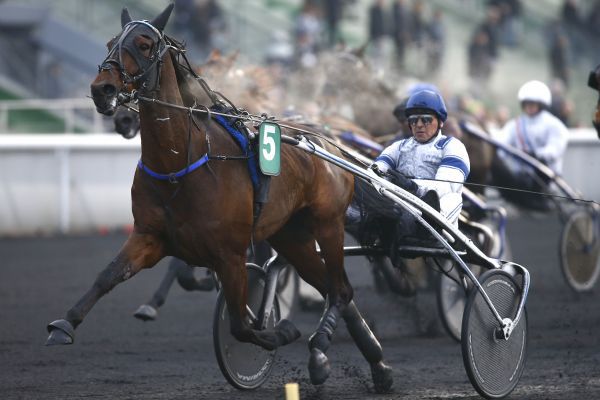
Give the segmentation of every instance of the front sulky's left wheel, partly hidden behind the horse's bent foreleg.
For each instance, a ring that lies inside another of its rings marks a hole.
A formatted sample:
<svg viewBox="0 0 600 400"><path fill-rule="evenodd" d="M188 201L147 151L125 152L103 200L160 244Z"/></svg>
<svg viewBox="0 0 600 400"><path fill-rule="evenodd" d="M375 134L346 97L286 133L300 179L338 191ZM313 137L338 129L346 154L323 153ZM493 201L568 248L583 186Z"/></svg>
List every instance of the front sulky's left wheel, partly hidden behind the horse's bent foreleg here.
<svg viewBox="0 0 600 400"><path fill-rule="evenodd" d="M257 316L265 288L265 272L254 264L246 264L246 266L248 307ZM276 297L267 328L272 329L279 319L279 302ZM251 343L242 343L231 335L229 313L223 292L219 293L215 306L213 343L219 368L232 386L243 390L256 389L269 377L277 350L267 351Z"/></svg>

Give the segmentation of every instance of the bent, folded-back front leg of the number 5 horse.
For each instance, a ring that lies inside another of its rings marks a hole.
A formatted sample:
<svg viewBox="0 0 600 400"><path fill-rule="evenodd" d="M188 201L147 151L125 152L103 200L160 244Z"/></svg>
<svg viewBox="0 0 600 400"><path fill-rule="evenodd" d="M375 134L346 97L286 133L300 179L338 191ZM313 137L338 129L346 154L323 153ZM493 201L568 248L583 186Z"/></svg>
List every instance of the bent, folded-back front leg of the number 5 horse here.
<svg viewBox="0 0 600 400"><path fill-rule="evenodd" d="M300 332L287 320L281 320L274 329L259 330L250 320L246 308L248 274L245 253L230 256L215 268L227 302L231 334L240 342L254 343L274 350L300 337Z"/></svg>

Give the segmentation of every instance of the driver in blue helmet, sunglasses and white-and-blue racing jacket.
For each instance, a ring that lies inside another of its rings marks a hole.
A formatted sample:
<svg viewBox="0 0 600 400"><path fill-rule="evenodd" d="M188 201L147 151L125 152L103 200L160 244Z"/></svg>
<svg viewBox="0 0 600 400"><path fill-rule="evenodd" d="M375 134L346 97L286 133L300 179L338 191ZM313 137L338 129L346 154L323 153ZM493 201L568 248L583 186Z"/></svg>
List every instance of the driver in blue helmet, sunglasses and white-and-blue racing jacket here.
<svg viewBox="0 0 600 400"><path fill-rule="evenodd" d="M370 168L380 175L399 172L395 183L430 205L431 197L437 197L433 204L439 200L440 213L458 227L470 164L462 142L442 134L448 117L444 100L436 91L417 91L408 98L404 115L412 136L385 148Z"/></svg>

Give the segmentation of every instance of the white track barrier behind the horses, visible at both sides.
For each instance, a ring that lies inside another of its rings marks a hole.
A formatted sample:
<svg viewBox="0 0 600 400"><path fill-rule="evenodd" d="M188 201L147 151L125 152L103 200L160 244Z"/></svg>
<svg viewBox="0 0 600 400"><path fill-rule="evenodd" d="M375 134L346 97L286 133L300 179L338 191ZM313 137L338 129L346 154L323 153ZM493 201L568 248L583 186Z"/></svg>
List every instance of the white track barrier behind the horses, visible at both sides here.
<svg viewBox="0 0 600 400"><path fill-rule="evenodd" d="M600 200L600 140L571 131L564 175ZM0 135L0 235L74 233L133 222L131 182L139 137L117 134Z"/></svg>

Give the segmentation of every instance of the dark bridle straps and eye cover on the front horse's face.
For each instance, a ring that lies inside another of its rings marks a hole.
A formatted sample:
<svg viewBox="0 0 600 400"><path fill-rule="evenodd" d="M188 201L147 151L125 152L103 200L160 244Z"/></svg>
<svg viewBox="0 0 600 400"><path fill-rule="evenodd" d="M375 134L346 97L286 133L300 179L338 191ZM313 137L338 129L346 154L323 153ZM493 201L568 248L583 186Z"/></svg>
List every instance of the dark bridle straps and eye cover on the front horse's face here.
<svg viewBox="0 0 600 400"><path fill-rule="evenodd" d="M149 37L154 42L154 49L149 58L140 54L137 49L134 38L131 33L136 32L140 35ZM131 21L123 27L123 31L118 41L108 51L108 55L101 65L98 66L98 73L110 71L116 66L124 85L141 82L140 91L143 93L155 92L160 88L160 69L162 57L169 49L178 48L167 43L165 35L152 26L148 21ZM126 50L136 62L139 72L136 75L130 75L123 66L122 52Z"/></svg>

